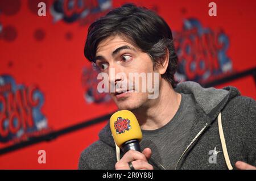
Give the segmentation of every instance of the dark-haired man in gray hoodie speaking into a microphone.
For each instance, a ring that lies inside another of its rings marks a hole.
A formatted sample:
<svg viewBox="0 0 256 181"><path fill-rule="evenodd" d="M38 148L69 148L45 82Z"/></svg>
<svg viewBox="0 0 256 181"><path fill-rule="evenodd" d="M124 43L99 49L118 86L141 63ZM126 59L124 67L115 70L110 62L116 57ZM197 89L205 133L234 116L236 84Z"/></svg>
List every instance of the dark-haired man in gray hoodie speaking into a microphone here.
<svg viewBox="0 0 256 181"><path fill-rule="evenodd" d="M89 61L106 74L112 69L127 77L158 73L159 89L155 99L148 98L148 90L110 92L119 110L137 117L142 153L121 150L119 155L107 124L100 140L82 152L79 169L255 169L255 101L234 87L177 85L172 40L170 27L159 15L131 4L90 25L84 49ZM109 86L123 81L125 76L110 76Z"/></svg>

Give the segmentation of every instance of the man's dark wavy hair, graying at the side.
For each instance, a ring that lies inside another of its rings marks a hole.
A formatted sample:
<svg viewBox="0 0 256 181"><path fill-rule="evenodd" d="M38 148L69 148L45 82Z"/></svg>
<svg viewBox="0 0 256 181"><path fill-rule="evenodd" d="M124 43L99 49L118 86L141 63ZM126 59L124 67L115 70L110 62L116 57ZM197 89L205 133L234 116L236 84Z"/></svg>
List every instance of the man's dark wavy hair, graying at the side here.
<svg viewBox="0 0 256 181"><path fill-rule="evenodd" d="M113 9L88 28L84 47L85 57L94 62L98 44L114 35L124 37L142 52L147 53L154 66L161 64L168 50L169 64L162 76L172 87L176 87L178 82L175 81L174 74L177 70L177 54L171 29L163 18L152 10L131 3Z"/></svg>

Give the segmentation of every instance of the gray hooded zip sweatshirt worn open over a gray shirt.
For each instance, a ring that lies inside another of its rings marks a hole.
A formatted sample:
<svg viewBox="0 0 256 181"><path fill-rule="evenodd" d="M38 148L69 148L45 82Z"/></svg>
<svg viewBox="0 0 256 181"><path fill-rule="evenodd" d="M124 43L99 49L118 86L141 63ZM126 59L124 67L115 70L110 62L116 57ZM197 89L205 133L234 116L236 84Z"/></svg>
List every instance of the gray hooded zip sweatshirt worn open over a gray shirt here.
<svg viewBox="0 0 256 181"><path fill-rule="evenodd" d="M241 96L232 86L204 89L196 82L182 82L175 91L192 94L196 102L196 120L176 169L236 169L237 161L256 165L255 100ZM122 158L109 123L98 136L98 141L82 151L79 169L115 169ZM209 150L215 147L222 148L217 163L209 161L214 161ZM148 162L154 169L165 169L154 158Z"/></svg>

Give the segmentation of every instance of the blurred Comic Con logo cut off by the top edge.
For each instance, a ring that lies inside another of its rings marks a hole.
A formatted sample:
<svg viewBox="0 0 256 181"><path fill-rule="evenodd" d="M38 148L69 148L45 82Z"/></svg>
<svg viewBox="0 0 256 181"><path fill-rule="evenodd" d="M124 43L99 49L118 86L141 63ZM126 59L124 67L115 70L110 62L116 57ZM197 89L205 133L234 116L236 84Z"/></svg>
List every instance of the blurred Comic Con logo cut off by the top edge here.
<svg viewBox="0 0 256 181"><path fill-rule="evenodd" d="M92 23L112 8L110 0L56 0L50 12L53 22L64 20L72 23L80 20L81 24Z"/></svg>

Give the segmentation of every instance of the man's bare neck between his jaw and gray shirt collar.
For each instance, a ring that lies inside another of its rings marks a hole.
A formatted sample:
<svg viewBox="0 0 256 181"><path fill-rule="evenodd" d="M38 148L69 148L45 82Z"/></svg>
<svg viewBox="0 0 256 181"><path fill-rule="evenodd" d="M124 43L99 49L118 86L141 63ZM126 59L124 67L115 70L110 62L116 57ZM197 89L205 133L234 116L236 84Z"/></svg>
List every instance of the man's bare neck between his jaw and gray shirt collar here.
<svg viewBox="0 0 256 181"><path fill-rule="evenodd" d="M154 130L166 125L177 112L181 101L181 94L172 89L164 79L159 87L157 99L148 99L148 105L133 110L141 129Z"/></svg>

